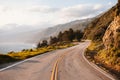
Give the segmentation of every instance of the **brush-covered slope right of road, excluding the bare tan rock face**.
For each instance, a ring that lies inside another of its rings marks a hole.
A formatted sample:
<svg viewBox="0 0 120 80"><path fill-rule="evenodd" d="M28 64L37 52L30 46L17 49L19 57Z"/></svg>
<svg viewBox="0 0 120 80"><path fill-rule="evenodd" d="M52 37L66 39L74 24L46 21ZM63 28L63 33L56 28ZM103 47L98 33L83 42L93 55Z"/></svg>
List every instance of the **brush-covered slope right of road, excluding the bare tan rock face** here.
<svg viewBox="0 0 120 80"><path fill-rule="evenodd" d="M102 42L106 29L114 20L117 11L118 7L115 5L103 15L92 21L85 29L84 38L93 41L86 50L87 58L108 68L120 77L120 49L112 47L110 50L106 50Z"/></svg>

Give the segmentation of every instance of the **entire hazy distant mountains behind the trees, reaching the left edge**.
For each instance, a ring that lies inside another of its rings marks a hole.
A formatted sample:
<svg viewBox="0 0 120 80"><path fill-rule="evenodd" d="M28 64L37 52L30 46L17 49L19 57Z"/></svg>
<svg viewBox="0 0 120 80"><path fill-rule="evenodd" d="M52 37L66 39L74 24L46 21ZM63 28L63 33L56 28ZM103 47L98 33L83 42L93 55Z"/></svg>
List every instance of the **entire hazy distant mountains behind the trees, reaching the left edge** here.
<svg viewBox="0 0 120 80"><path fill-rule="evenodd" d="M76 20L66 24L60 24L53 27L49 27L46 29L16 29L12 31L0 31L0 43L4 42L25 42L25 43L38 43L43 39L48 39L50 36L57 36L60 31L69 30L69 28L73 28L74 30L84 30L87 25L93 20L83 19ZM14 26L14 25L7 25ZM18 26L18 25L15 25ZM28 31L27 31L28 30Z"/></svg>

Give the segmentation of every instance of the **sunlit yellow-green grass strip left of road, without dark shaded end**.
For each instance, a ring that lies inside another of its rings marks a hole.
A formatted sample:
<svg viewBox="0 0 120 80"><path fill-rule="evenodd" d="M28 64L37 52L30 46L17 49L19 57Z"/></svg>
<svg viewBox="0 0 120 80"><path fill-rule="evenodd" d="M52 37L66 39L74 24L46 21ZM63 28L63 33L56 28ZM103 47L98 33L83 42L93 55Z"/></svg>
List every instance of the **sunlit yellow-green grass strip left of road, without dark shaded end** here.
<svg viewBox="0 0 120 80"><path fill-rule="evenodd" d="M24 60L24 59L27 59L36 55L40 55L46 52L50 52L56 49L63 49L71 46L74 46L74 44L65 43L65 44L59 44L56 46L50 45L50 46L44 46L36 49L27 49L27 50L24 49L21 52L9 52L7 55L16 60Z"/></svg>

